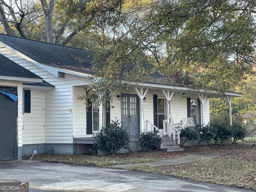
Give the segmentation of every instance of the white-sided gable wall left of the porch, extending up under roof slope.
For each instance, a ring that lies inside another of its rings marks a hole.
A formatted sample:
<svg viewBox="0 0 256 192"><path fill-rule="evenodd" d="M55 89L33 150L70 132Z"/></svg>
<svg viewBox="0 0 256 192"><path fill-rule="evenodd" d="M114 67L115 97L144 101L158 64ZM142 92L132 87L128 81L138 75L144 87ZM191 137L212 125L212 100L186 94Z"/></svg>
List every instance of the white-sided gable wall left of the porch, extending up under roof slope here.
<svg viewBox="0 0 256 192"><path fill-rule="evenodd" d="M44 136L45 143L72 143L73 142L73 123L72 123L72 102L73 96L71 87L76 84L86 84L86 78L65 74L64 78L58 78L49 72L39 68L35 64L21 58L18 54L0 46L0 53L10 60L20 64L24 68L42 77L46 82L55 86L54 90L45 92L45 119ZM39 102L39 101L38 101ZM36 106L36 104L35 104ZM70 112L71 110L71 112ZM34 123L39 126L40 121L26 120L25 125ZM54 133L54 134L53 134ZM39 135L38 137L40 137ZM27 136L27 140L28 140Z"/></svg>

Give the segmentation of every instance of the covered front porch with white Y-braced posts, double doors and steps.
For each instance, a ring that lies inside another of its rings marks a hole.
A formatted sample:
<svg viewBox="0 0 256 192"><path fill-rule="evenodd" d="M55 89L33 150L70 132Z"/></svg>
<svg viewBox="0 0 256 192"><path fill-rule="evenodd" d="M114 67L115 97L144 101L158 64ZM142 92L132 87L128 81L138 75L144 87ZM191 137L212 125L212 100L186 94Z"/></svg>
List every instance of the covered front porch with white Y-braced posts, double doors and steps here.
<svg viewBox="0 0 256 192"><path fill-rule="evenodd" d="M73 90L74 98L76 94L84 92L82 87L74 87ZM222 97L230 102L231 106L231 97L241 95L227 93ZM192 119L192 124L210 122L209 98L211 97L218 96L215 92L191 91L184 87L134 84L130 85L126 92L119 92L113 98L111 103L113 107L109 109L109 113L106 113L104 106L86 112L84 103L74 99L73 140L76 144L92 144L93 134L105 126L106 122L117 118L130 134L131 142L137 143L134 150L141 149L137 136L141 132L152 130L158 130L165 141L160 146L161 149L180 150L180 130L191 125L189 120ZM94 119L91 114L96 113Z"/></svg>

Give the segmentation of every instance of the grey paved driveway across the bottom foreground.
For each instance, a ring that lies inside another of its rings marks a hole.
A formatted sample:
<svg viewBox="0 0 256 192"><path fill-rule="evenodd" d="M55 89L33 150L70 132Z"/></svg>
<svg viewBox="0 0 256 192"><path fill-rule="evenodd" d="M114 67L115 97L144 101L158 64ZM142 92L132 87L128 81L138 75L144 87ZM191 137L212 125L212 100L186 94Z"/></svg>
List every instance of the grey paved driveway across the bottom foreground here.
<svg viewBox="0 0 256 192"><path fill-rule="evenodd" d="M30 192L252 192L172 176L38 161L0 162L0 182L29 182Z"/></svg>

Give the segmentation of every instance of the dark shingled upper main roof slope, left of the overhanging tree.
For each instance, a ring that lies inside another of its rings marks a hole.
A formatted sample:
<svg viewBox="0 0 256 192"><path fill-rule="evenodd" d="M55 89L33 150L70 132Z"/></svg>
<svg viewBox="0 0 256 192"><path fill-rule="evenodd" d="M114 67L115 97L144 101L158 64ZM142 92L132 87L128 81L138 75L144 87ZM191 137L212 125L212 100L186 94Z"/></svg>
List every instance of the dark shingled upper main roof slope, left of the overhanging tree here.
<svg viewBox="0 0 256 192"><path fill-rule="evenodd" d="M0 34L0 41L38 63L92 74L93 56L83 49Z"/></svg>

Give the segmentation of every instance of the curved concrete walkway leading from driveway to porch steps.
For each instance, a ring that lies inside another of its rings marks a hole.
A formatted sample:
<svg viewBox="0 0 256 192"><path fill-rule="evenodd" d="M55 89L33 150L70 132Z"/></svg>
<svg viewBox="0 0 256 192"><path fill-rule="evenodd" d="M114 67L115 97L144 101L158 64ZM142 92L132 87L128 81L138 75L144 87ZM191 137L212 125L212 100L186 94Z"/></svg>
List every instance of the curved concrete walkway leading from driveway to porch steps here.
<svg viewBox="0 0 256 192"><path fill-rule="evenodd" d="M166 165L177 165L177 164L184 164L189 162L196 162L201 159L211 159L214 157L219 157L219 154L216 153L208 153L208 152L190 152L190 151L181 151L178 153L184 153L187 156L179 157L179 158L173 158L173 159L166 159L166 160L160 160L160 161L154 161L154 162L147 162L147 163L134 163L134 164L124 164L124 165L114 165L110 166L111 168L131 168L139 165L151 165L151 166L166 166Z"/></svg>

